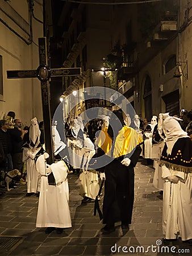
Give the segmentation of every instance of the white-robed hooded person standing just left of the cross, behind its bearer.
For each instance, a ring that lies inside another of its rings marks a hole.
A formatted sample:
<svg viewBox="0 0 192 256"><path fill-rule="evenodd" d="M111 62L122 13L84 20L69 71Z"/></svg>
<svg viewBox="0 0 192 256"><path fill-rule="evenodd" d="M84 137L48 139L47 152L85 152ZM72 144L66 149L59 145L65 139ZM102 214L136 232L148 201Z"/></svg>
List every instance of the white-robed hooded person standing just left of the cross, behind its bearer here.
<svg viewBox="0 0 192 256"><path fill-rule="evenodd" d="M36 117L31 119L30 125L30 143L23 148L23 162L26 162L27 168L27 194L26 196L31 196L34 193L40 191L39 175L35 167L35 156L40 154L40 130L37 123Z"/></svg>

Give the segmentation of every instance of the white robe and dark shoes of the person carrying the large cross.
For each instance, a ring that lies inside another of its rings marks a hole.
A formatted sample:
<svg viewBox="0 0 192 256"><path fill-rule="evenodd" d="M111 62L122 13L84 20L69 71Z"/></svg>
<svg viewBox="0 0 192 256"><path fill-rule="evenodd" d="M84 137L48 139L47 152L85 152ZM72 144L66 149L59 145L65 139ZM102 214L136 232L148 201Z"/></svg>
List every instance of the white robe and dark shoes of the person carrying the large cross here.
<svg viewBox="0 0 192 256"><path fill-rule="evenodd" d="M48 157L45 152L36 161L36 170L41 176L36 227L47 228L45 229L47 234L53 230L61 234L64 228L72 226L69 211L68 167L62 160L48 166L45 161ZM48 184L48 175L51 172L55 177L55 186Z"/></svg>

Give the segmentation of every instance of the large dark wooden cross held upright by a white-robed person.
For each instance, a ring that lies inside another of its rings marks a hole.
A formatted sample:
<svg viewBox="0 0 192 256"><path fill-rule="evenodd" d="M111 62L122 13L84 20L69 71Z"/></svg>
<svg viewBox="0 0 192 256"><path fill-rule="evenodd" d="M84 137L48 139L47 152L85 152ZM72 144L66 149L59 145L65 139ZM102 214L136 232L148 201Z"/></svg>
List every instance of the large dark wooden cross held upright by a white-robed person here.
<svg viewBox="0 0 192 256"><path fill-rule="evenodd" d="M54 155L53 155L53 141L52 141L52 131L51 131L49 79L50 77L53 77L53 76L81 75L81 68L55 68L55 69L49 68L48 60L47 60L47 42L45 37L39 38L39 63L40 65L36 70L7 71L7 79L22 79L22 78L37 77L41 81L41 100L43 105L45 149L46 149L46 152L48 152L49 154L47 163L52 164L54 163ZM51 181L51 176L49 177L49 184L50 185L55 184L54 179Z"/></svg>

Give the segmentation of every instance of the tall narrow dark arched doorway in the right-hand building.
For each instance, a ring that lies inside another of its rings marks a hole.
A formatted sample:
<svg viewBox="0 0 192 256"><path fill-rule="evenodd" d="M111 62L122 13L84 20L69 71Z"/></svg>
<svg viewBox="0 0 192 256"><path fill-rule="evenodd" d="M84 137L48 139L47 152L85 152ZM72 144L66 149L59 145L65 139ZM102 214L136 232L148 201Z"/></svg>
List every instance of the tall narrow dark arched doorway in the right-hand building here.
<svg viewBox="0 0 192 256"><path fill-rule="evenodd" d="M151 96L151 79L147 75L145 78L145 84L144 84L144 107L145 107L145 118L151 120L152 118L152 96Z"/></svg>

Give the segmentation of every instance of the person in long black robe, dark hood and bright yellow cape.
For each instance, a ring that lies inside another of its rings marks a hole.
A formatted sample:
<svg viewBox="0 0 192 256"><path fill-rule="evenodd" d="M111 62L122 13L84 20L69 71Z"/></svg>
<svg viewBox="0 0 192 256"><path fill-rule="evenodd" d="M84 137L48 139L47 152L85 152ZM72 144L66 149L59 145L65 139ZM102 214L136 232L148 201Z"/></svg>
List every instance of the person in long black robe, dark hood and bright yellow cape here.
<svg viewBox="0 0 192 256"><path fill-rule="evenodd" d="M126 126L122 110L114 110L110 125L98 136L97 146L110 159L103 162L105 195L103 199L103 233L115 231L115 222L122 222L122 229L129 229L134 200L134 167L141 152L140 135ZM101 169L100 169L101 170Z"/></svg>

